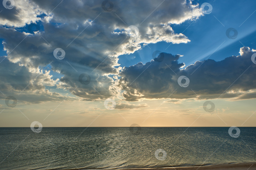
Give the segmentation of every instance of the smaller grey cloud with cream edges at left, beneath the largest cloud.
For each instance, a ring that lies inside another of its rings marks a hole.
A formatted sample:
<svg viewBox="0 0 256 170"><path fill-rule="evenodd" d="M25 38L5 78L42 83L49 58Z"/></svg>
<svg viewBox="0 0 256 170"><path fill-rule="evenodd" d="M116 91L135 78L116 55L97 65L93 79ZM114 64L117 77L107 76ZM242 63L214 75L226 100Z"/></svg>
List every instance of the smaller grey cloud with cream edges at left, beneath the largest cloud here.
<svg viewBox="0 0 256 170"><path fill-rule="evenodd" d="M78 100L75 97L63 96L46 89L54 87L59 79L53 80L49 68L29 70L18 63L0 57L0 98L14 96L19 103L41 103L44 101ZM7 69L8 68L8 69Z"/></svg>

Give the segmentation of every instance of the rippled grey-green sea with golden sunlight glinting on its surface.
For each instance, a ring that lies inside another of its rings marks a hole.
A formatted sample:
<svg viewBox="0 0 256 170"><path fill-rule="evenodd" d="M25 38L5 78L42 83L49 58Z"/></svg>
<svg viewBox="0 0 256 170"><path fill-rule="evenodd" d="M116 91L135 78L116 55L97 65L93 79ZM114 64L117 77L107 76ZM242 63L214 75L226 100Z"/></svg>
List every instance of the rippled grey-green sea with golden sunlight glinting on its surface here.
<svg viewBox="0 0 256 170"><path fill-rule="evenodd" d="M256 162L256 128L0 128L0 169L123 169ZM186 130L186 131L185 131Z"/></svg>

